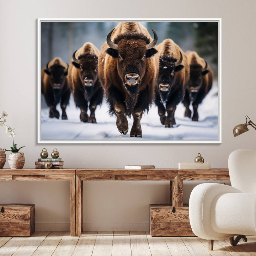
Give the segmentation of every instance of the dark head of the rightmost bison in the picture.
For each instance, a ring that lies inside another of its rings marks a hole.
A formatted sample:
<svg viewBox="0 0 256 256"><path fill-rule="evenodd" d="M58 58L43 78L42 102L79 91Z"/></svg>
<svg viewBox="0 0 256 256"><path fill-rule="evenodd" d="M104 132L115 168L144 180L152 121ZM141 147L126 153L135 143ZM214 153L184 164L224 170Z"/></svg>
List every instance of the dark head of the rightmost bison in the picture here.
<svg viewBox="0 0 256 256"><path fill-rule="evenodd" d="M209 72L209 70L207 70L207 62L204 62L204 68L200 64L190 65L190 81L188 84L188 91L191 101L194 101L196 99L198 91L202 86L203 76Z"/></svg>

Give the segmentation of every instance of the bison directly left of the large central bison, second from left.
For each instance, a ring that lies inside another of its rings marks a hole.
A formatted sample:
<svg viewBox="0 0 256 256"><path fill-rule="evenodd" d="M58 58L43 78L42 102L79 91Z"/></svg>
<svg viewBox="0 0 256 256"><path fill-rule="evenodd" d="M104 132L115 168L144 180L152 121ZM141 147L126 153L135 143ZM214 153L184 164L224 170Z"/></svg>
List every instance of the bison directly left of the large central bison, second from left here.
<svg viewBox="0 0 256 256"><path fill-rule="evenodd" d="M81 110L82 122L96 123L95 110L102 103L103 90L98 80L99 51L92 43L85 43L73 53L69 64L68 81L76 107ZM90 117L87 109L90 101Z"/></svg>

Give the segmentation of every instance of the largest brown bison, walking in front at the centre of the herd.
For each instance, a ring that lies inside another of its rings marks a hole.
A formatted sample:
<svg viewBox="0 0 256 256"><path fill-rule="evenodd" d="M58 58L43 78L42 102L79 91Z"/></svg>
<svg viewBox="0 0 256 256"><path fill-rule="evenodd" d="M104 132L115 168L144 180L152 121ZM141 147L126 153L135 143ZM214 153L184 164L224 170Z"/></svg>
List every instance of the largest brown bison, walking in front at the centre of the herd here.
<svg viewBox="0 0 256 256"><path fill-rule="evenodd" d="M130 137L142 137L140 119L154 101L159 56L154 40L139 22L120 22L107 35L99 55L99 77L109 112L117 116L117 129L128 132L126 116L133 116Z"/></svg>

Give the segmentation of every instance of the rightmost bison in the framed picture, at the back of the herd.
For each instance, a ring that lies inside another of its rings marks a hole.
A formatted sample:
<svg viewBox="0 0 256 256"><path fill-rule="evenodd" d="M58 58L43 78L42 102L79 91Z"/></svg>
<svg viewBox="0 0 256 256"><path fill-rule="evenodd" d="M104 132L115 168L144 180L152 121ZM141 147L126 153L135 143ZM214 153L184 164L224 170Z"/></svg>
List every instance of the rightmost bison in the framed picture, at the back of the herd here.
<svg viewBox="0 0 256 256"><path fill-rule="evenodd" d="M198 104L212 88L213 72L207 62L200 58L196 52L186 52L190 65L190 80L186 88L183 104L186 107L185 116L191 118L190 102L193 106L193 121L198 121Z"/></svg>

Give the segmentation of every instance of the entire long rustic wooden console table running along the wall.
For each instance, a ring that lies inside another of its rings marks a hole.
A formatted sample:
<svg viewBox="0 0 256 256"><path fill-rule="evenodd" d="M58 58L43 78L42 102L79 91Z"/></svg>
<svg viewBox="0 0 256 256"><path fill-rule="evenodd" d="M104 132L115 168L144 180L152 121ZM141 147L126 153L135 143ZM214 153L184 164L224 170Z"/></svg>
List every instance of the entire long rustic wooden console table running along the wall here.
<svg viewBox="0 0 256 256"><path fill-rule="evenodd" d="M0 181L15 180L70 181L70 235L81 236L83 230L83 181L170 181L170 205L182 207L184 180L229 180L229 172L228 169L0 169Z"/></svg>

